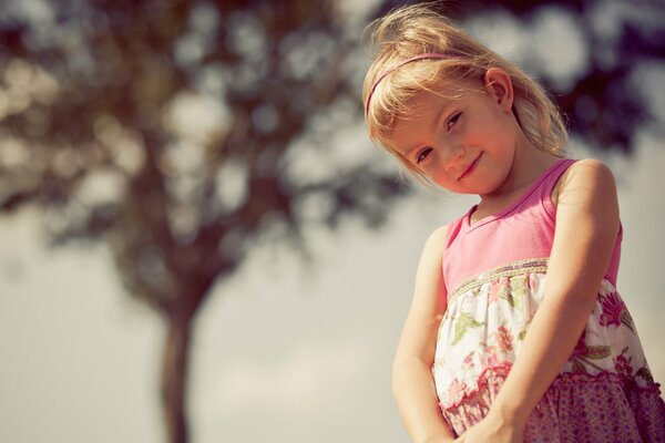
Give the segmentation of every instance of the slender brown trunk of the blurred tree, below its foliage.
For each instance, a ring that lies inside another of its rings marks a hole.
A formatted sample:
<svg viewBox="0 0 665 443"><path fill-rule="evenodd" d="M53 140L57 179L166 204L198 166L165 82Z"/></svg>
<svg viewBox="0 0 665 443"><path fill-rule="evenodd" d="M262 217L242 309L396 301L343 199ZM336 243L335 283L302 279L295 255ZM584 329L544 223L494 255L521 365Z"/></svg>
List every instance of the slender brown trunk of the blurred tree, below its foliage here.
<svg viewBox="0 0 665 443"><path fill-rule="evenodd" d="M168 318L162 360L162 408L168 443L187 443L187 367L192 317Z"/></svg>

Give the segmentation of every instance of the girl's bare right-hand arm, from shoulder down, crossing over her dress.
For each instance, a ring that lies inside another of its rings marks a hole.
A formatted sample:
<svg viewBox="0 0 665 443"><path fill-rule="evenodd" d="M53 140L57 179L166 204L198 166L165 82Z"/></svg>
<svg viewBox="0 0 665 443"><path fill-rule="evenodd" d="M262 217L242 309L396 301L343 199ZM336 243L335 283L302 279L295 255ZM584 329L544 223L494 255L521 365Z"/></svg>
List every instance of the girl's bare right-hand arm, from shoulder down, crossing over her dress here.
<svg viewBox="0 0 665 443"><path fill-rule="evenodd" d="M574 163L560 183L545 297L488 418L460 441L518 441L507 430L523 432L529 414L571 356L595 306L618 226L610 169L593 159Z"/></svg>

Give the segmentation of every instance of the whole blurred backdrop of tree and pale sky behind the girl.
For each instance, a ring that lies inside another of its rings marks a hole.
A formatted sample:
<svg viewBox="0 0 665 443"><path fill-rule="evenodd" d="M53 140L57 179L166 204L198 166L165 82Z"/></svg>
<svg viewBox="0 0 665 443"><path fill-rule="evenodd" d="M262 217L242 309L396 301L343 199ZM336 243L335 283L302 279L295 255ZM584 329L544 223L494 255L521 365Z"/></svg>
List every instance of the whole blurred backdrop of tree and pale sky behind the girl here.
<svg viewBox="0 0 665 443"><path fill-rule="evenodd" d="M0 441L405 442L420 248L474 197L365 135L400 1L0 3ZM446 2L618 184L618 289L665 381L665 10Z"/></svg>

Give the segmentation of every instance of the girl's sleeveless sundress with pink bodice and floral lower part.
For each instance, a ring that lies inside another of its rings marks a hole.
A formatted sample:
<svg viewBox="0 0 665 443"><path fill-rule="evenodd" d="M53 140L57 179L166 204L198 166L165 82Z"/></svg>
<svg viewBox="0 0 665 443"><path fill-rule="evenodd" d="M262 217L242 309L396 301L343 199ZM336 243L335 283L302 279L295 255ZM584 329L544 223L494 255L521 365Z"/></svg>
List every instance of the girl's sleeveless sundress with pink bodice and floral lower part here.
<svg viewBox="0 0 665 443"><path fill-rule="evenodd" d="M448 308L432 374L456 436L489 412L543 300L556 215L551 193L573 162L556 162L500 214L471 225L473 207L449 225ZM615 288L621 240L622 231L584 332L529 416L525 442L665 442L659 384Z"/></svg>

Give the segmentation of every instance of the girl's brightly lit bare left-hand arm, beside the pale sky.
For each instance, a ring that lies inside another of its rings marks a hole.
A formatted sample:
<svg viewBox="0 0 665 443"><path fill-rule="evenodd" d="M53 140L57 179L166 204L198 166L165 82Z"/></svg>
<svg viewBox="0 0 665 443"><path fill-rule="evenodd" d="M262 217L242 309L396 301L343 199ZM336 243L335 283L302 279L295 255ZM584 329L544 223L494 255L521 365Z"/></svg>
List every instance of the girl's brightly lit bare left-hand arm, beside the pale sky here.
<svg viewBox="0 0 665 443"><path fill-rule="evenodd" d="M446 286L441 275L446 229L443 226L432 233L420 256L413 301L392 368L397 409L416 443L453 441L441 416L431 372L439 323L446 310Z"/></svg>

